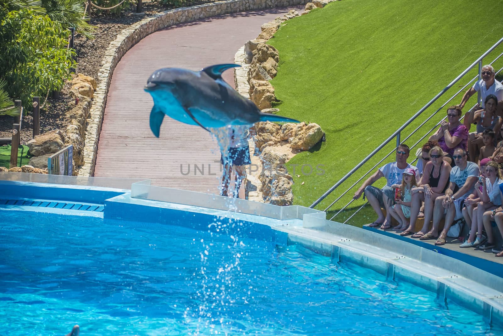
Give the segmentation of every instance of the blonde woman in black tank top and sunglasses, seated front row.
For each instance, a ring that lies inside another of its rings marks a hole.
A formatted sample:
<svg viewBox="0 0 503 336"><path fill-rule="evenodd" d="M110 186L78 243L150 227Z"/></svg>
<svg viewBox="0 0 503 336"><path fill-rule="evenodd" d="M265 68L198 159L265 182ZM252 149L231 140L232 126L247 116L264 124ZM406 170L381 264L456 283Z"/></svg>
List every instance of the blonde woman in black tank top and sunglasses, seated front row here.
<svg viewBox="0 0 503 336"><path fill-rule="evenodd" d="M421 238L430 229L430 222L433 217L433 207L435 199L445 195L449 186L451 166L444 161L444 151L439 146L430 149L430 161L425 165L423 177L421 178L421 189L414 189L410 207L410 225L400 235L406 236L414 233L415 222L420 212L421 202L425 202L425 223L423 228L412 235L412 238Z"/></svg>

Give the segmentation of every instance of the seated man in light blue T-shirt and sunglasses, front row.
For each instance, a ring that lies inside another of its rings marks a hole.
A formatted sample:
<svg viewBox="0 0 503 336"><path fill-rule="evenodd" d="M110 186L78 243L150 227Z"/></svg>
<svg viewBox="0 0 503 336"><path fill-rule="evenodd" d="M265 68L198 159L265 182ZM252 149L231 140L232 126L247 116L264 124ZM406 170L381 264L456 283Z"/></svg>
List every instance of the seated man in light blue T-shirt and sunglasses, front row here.
<svg viewBox="0 0 503 336"><path fill-rule="evenodd" d="M475 183L478 180L478 165L468 161L466 150L463 148L456 148L453 157L456 166L451 170L449 188L445 191L445 196L439 196L435 200L433 209L433 228L430 232L419 238L421 240L436 238L437 241L435 245L444 245L447 232L454 220L463 217L462 208L464 199L473 192ZM459 189L457 192L454 192L456 186L458 186ZM440 235L438 235L440 221L444 215L444 229Z"/></svg>

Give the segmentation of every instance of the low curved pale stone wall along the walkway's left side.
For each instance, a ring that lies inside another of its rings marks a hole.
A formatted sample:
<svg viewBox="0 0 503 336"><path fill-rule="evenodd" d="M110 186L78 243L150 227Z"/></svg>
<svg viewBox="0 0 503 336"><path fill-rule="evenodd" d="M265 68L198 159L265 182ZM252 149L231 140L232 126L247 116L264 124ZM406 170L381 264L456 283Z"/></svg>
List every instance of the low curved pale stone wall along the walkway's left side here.
<svg viewBox="0 0 503 336"><path fill-rule="evenodd" d="M100 137L103 114L107 104L108 89L112 73L124 54L145 36L173 25L206 19L217 15L240 13L250 10L281 8L305 5L308 0L227 0L193 7L178 8L145 18L124 29L110 43L103 65L98 73L99 84L94 95L94 102L88 118L86 145L83 150L84 165L78 170L78 176L93 176L96 152Z"/></svg>

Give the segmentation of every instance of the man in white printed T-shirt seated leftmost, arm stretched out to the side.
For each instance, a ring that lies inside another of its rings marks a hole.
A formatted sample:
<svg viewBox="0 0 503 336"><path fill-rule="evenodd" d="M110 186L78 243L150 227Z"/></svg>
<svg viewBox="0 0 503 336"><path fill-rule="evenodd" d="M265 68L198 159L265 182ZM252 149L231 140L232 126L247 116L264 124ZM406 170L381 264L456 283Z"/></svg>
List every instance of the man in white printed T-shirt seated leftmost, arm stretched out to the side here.
<svg viewBox="0 0 503 336"><path fill-rule="evenodd" d="M398 145L396 148L396 161L380 167L377 172L362 184L355 193L355 196L353 196L353 199L356 200L365 192L364 198L367 197L367 200L378 216L376 221L370 224L371 227L380 226L383 230L391 227L391 213L389 208L395 204L395 191L391 186L402 183L403 172L405 172L407 168L411 168L415 172L416 179L419 177L417 168L407 163L408 156L409 147L404 143ZM382 177L386 178L386 186L382 189L372 186L374 182ZM386 209L386 217L381 208Z"/></svg>

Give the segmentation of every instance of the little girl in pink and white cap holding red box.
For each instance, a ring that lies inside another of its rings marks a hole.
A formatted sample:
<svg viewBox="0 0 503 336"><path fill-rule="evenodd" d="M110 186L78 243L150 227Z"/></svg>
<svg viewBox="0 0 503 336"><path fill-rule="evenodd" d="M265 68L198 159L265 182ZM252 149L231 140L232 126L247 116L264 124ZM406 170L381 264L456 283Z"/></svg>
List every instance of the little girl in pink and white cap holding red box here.
<svg viewBox="0 0 503 336"><path fill-rule="evenodd" d="M390 208L390 214L399 223L393 227L394 230L405 230L409 226L408 218L410 218L410 200L412 198L412 189L417 187L415 181L415 172L411 168L407 168L402 174L402 184L392 185L391 188L400 188L401 199L395 200L396 204ZM422 188L420 188L422 189Z"/></svg>

